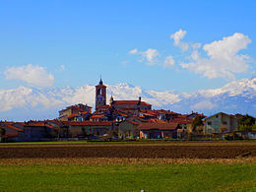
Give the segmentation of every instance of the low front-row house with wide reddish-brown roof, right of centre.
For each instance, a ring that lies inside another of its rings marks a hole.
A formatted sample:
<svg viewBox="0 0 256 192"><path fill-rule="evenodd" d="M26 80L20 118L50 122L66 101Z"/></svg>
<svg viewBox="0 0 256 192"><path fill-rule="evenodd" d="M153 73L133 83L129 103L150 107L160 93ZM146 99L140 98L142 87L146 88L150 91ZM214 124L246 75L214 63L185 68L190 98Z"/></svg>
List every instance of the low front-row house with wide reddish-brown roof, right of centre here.
<svg viewBox="0 0 256 192"><path fill-rule="evenodd" d="M140 123L137 127L140 139L177 138L177 123Z"/></svg>

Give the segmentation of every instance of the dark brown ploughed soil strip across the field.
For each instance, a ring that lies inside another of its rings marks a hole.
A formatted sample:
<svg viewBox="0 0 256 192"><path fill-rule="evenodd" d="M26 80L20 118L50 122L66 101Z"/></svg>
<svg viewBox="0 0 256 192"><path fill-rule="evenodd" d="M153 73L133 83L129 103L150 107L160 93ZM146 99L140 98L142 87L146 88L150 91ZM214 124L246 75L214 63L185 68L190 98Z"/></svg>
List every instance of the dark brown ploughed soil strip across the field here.
<svg viewBox="0 0 256 192"><path fill-rule="evenodd" d="M0 159L119 158L237 159L256 157L256 145L232 146L54 146L0 148Z"/></svg>

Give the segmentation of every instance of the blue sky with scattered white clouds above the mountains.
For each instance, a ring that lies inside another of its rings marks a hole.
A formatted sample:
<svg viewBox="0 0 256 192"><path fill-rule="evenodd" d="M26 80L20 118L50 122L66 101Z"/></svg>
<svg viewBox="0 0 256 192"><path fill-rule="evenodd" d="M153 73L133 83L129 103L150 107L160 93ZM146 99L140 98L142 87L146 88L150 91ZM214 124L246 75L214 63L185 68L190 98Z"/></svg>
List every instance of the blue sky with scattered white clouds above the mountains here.
<svg viewBox="0 0 256 192"><path fill-rule="evenodd" d="M255 1L0 1L0 91L129 83L196 92L255 77Z"/></svg>

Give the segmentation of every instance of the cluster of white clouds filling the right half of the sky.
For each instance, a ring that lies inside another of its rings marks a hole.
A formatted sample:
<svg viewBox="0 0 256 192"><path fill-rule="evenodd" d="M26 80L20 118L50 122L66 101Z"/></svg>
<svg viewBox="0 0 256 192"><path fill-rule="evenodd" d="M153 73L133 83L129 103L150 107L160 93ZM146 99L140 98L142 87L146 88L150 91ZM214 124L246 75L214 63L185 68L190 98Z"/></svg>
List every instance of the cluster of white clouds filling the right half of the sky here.
<svg viewBox="0 0 256 192"><path fill-rule="evenodd" d="M183 58L178 62L182 69L208 79L222 78L228 81L235 80L237 74L248 72L250 57L242 54L241 50L246 49L252 42L249 36L241 32L234 32L221 40L215 40L202 46L200 42L181 41L186 34L186 31L179 30L169 36L170 39L173 39L173 45L182 50ZM146 60L147 65L150 66L160 65L163 68L170 68L175 64L172 55L161 58L160 52L154 48L149 48L146 51L139 51L135 48L129 53L140 55L140 62Z"/></svg>

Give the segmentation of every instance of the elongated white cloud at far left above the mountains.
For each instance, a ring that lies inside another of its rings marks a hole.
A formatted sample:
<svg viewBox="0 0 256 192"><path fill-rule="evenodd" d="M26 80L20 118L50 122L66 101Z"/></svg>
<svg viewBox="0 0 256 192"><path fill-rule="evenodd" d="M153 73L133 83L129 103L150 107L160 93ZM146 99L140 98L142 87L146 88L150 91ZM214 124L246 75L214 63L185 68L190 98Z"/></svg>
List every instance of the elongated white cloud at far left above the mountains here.
<svg viewBox="0 0 256 192"><path fill-rule="evenodd" d="M4 75L7 80L22 80L39 87L50 87L54 83L53 75L47 73L44 67L32 64L10 67Z"/></svg>

